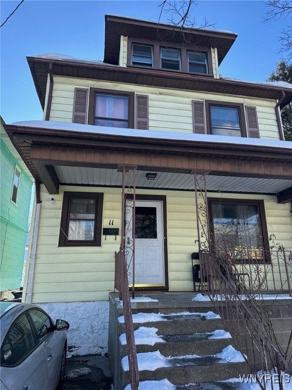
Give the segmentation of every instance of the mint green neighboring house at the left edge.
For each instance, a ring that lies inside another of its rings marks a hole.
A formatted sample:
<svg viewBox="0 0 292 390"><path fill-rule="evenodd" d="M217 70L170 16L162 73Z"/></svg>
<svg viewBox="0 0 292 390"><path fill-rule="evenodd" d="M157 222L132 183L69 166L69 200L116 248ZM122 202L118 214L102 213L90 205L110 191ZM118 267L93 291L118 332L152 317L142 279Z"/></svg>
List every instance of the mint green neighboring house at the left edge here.
<svg viewBox="0 0 292 390"><path fill-rule="evenodd" d="M20 287L33 178L12 145L1 119L0 290Z"/></svg>

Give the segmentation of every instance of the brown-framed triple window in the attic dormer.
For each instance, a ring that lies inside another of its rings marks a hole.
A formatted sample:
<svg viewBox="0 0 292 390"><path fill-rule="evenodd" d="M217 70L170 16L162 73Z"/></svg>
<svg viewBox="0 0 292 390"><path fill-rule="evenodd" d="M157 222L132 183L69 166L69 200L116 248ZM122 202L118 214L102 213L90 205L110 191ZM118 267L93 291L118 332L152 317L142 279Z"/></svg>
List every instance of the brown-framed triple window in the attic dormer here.
<svg viewBox="0 0 292 390"><path fill-rule="evenodd" d="M143 39L128 39L128 67L147 67L166 71L213 76L211 49L193 45Z"/></svg>

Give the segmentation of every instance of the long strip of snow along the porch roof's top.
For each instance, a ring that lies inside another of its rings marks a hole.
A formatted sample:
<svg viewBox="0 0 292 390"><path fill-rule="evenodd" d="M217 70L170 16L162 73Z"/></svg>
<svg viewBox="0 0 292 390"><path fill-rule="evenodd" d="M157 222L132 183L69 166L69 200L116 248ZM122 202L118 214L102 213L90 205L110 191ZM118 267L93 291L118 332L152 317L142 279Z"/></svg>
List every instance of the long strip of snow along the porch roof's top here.
<svg viewBox="0 0 292 390"><path fill-rule="evenodd" d="M177 133L165 131L153 131L153 130L138 130L134 128L123 128L122 130L117 127L103 127L95 126L91 124L80 124L71 122L57 122L57 121L21 121L12 123L15 126L33 127L33 128L49 128L62 131L86 133L86 134L100 134L100 135L112 135L133 137L137 139L161 139L161 140L175 140L175 141L195 141L195 142L208 142L215 144L233 144L233 145L254 145L254 146L267 146L274 148L289 148L292 150L292 141L276 141L267 140L261 138L244 138L244 137L230 137L230 136L216 136L209 134L193 134L193 133Z"/></svg>

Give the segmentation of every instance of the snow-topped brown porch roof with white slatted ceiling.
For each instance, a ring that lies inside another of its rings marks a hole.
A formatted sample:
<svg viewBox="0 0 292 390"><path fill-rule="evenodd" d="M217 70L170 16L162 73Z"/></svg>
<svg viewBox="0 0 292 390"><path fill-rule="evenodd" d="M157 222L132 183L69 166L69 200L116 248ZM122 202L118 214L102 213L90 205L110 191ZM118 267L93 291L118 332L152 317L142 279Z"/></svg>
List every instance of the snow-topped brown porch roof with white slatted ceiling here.
<svg viewBox="0 0 292 390"><path fill-rule="evenodd" d="M208 190L277 194L292 200L292 142L105 128L53 122L5 126L25 163L50 193L60 184L120 186L119 165L135 165L140 187L193 190L190 173L208 172ZM145 172L160 172L147 180Z"/></svg>

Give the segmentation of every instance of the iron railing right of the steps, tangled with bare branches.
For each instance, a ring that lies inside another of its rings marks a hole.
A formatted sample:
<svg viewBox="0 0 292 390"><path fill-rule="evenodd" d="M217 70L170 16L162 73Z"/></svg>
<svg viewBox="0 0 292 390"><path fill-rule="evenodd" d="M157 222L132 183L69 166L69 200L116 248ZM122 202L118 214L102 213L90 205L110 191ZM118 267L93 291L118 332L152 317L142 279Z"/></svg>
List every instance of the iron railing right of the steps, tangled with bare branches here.
<svg viewBox="0 0 292 390"><path fill-rule="evenodd" d="M292 332L283 349L273 329L270 308L263 293L288 293L292 297L292 258L289 251L247 251L229 256L200 251L202 292L207 293L259 385L257 372L276 368L292 371ZM279 381L279 388L283 384Z"/></svg>

